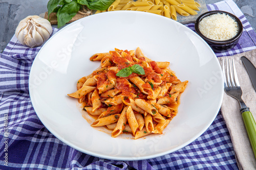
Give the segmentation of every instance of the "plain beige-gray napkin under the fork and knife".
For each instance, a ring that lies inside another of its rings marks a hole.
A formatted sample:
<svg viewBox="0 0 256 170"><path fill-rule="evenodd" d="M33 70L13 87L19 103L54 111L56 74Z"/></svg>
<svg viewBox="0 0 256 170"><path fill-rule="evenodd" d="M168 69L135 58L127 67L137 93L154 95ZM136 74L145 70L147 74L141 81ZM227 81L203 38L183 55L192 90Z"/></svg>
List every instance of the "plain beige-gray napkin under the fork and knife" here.
<svg viewBox="0 0 256 170"><path fill-rule="evenodd" d="M250 108L254 119L256 119L256 92L241 61L242 56L248 58L254 64L254 66L256 66L256 50L229 57L219 57L218 59L220 63L222 62L222 59L234 59L238 72L239 83L243 91L242 99L246 106ZM243 118L239 109L240 105L238 101L224 92L221 112L231 136L234 152L236 152L238 166L240 169L256 169L256 160L254 158L251 144L247 136Z"/></svg>

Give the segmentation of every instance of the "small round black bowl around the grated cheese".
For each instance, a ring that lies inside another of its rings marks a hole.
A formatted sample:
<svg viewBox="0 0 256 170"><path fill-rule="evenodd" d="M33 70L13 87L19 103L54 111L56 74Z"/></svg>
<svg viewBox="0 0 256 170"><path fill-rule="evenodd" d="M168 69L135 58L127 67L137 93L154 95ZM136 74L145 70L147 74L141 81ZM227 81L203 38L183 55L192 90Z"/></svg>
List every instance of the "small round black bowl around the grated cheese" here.
<svg viewBox="0 0 256 170"><path fill-rule="evenodd" d="M229 39L229 40L225 40L225 41L217 41L217 40L212 40L212 39L209 39L207 37L205 37L199 30L199 22L204 18L204 17L207 17L207 16L210 16L212 14L217 14L217 13L221 13L221 14L227 14L229 15L231 18L233 18L234 20L237 21L238 23L238 33L236 36L234 36L233 38ZM197 34L202 37L208 44L209 46L211 47L211 49L214 51L214 52L217 52L217 53L221 53L221 52L225 52L227 51L228 49L234 47L237 45L238 43L238 40L239 38L241 37L242 33L243 33L243 25L242 25L242 22L240 21L240 19L238 17L236 17L235 15L233 14L230 14L228 12L225 12L225 11L209 11L209 12L205 12L203 13L202 15L200 15L196 22L195 22L195 29L196 29L196 32Z"/></svg>

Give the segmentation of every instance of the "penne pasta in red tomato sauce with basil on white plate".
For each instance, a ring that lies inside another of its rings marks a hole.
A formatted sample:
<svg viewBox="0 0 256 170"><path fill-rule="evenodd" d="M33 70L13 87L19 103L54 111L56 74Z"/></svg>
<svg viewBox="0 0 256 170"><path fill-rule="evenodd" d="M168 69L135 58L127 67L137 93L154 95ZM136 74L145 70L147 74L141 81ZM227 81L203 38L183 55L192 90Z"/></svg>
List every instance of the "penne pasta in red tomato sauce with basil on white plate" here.
<svg viewBox="0 0 256 170"><path fill-rule="evenodd" d="M178 113L188 81L180 81L169 62L153 61L139 47L96 53L90 60L100 68L78 79L77 91L68 96L96 118L91 126L112 130L112 137L162 134Z"/></svg>

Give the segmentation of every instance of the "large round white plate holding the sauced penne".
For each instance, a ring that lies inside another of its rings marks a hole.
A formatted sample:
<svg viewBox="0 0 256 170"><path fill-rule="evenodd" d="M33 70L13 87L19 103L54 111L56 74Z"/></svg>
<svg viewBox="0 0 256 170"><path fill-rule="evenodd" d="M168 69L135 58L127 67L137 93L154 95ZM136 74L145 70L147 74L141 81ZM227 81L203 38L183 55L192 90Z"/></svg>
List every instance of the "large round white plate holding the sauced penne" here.
<svg viewBox="0 0 256 170"><path fill-rule="evenodd" d="M163 134L112 138L105 129L91 127L67 94L99 67L89 60L93 54L138 46L148 58L169 61L177 77L189 83L178 115ZM33 62L29 91L41 122L70 147L101 158L141 160L177 151L211 125L222 103L223 77L214 52L187 27L151 13L113 11L79 19L52 36Z"/></svg>

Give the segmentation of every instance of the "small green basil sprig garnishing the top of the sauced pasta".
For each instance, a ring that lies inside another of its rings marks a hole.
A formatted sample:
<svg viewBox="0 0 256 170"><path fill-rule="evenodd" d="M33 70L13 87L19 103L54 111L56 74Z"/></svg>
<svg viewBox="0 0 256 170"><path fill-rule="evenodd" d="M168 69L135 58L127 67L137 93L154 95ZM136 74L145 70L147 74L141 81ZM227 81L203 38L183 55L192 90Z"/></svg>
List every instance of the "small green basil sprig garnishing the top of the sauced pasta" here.
<svg viewBox="0 0 256 170"><path fill-rule="evenodd" d="M133 72L137 73L139 75L145 75L144 69L139 64L135 64L132 67L129 66L129 67L121 69L120 71L117 72L116 76L118 76L118 77L128 77Z"/></svg>

